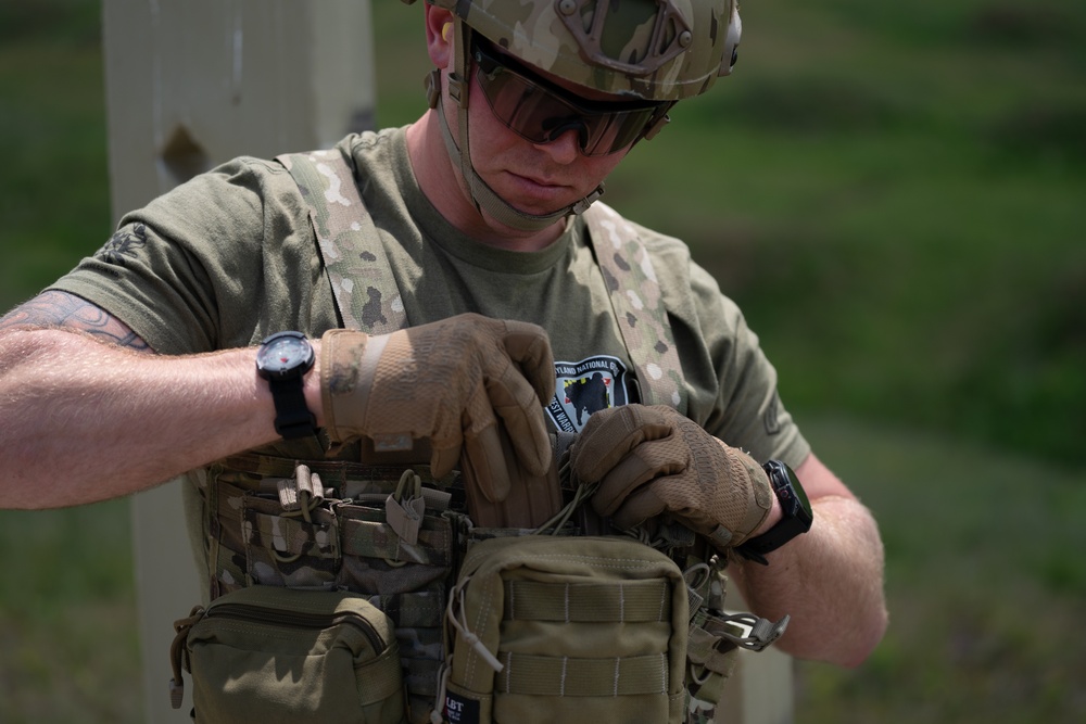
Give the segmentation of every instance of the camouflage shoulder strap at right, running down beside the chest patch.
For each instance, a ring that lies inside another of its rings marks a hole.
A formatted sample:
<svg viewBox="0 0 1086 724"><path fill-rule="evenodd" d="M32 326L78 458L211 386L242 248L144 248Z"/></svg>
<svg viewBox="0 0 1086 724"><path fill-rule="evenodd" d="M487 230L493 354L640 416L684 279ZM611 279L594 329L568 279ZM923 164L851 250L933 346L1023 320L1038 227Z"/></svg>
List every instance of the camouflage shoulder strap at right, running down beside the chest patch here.
<svg viewBox="0 0 1086 724"><path fill-rule="evenodd" d="M610 206L584 212L622 341L642 381L642 402L686 414L686 384L653 261L637 231Z"/></svg>

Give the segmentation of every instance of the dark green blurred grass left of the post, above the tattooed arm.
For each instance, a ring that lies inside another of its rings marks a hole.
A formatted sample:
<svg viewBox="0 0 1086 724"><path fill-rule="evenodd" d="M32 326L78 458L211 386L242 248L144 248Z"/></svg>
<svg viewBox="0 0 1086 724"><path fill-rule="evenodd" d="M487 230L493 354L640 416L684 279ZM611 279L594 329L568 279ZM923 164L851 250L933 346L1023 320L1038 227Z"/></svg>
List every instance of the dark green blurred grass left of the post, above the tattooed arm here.
<svg viewBox="0 0 1086 724"><path fill-rule="evenodd" d="M109 237L105 91L93 2L0 5L0 308Z"/></svg>

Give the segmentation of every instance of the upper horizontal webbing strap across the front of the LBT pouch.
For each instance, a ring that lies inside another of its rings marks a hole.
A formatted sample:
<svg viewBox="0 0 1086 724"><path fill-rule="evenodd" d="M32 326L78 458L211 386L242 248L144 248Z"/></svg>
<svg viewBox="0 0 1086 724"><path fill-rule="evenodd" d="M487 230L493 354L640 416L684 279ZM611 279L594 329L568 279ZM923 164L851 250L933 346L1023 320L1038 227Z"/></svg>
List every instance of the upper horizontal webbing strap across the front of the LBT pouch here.
<svg viewBox="0 0 1086 724"><path fill-rule="evenodd" d="M567 623L671 620L671 590L662 579L623 583L507 581L505 619Z"/></svg>

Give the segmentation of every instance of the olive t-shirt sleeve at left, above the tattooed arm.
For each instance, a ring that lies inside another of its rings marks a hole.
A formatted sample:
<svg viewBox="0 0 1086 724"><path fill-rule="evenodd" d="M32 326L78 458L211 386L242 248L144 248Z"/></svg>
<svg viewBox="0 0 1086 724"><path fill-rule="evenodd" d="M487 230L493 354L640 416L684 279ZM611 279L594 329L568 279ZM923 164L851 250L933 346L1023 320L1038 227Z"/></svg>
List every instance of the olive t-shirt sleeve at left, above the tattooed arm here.
<svg viewBox="0 0 1086 724"><path fill-rule="evenodd" d="M97 304L161 354L187 354L249 345L262 319L296 318L318 274L286 169L238 158L127 214L51 289Z"/></svg>

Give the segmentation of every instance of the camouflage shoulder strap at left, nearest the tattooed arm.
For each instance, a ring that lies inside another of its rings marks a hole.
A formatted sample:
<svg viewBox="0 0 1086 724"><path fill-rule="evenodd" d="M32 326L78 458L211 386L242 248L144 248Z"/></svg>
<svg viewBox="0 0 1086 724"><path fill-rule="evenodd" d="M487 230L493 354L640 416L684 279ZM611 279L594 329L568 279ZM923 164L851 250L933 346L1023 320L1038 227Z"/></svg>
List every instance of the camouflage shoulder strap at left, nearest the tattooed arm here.
<svg viewBox="0 0 1086 724"><path fill-rule="evenodd" d="M277 156L310 206L343 326L369 334L407 326L403 299L351 165L338 150ZM364 285L364 287L363 287Z"/></svg>

